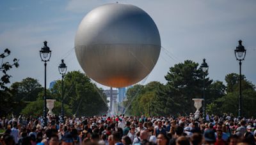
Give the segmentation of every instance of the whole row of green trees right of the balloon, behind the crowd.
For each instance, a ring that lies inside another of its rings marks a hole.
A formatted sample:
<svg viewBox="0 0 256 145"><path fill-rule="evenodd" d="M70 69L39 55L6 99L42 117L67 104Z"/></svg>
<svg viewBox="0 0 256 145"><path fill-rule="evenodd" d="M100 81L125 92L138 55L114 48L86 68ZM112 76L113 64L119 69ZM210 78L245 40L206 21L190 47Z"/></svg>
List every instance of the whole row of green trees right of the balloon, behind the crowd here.
<svg viewBox="0 0 256 145"><path fill-rule="evenodd" d="M204 74L205 73L205 74ZM209 114L237 114L239 103L239 74L227 74L225 81L212 81L208 72L203 72L196 62L186 60L184 63L170 67L164 76L165 85L153 81L147 85L134 85L127 90L125 107L127 114L147 116L169 116L195 112L193 98L203 98L205 75L205 104ZM255 85L242 76L242 111L243 115L256 116L252 109L256 101ZM131 104L131 105L129 105ZM201 108L202 109L202 108Z"/></svg>

